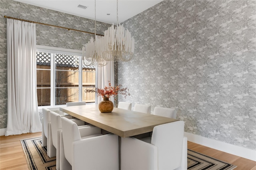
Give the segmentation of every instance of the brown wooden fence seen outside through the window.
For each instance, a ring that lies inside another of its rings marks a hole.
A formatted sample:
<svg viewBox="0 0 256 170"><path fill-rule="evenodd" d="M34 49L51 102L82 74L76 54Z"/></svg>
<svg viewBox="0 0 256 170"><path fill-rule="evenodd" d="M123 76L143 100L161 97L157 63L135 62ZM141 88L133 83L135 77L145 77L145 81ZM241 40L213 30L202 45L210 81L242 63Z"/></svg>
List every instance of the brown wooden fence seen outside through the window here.
<svg viewBox="0 0 256 170"><path fill-rule="evenodd" d="M50 66L37 65L37 97L38 106L50 106ZM42 69L42 70L40 70ZM57 67L55 72L55 105L66 102L78 102L79 72L76 67ZM95 69L82 69L82 101L95 102L95 93L85 93L84 90L95 87Z"/></svg>

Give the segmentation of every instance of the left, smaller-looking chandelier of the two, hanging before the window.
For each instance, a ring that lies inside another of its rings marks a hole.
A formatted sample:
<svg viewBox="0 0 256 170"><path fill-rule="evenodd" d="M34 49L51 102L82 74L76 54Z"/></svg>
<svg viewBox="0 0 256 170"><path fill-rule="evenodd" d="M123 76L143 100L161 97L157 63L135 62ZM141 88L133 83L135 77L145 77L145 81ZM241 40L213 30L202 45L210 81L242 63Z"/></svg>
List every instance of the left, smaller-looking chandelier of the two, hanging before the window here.
<svg viewBox="0 0 256 170"><path fill-rule="evenodd" d="M105 66L107 62L102 57L104 49L103 37L96 35L96 0L94 1L94 13L94 38L91 37L85 47L82 47L82 56L84 65L101 67Z"/></svg>

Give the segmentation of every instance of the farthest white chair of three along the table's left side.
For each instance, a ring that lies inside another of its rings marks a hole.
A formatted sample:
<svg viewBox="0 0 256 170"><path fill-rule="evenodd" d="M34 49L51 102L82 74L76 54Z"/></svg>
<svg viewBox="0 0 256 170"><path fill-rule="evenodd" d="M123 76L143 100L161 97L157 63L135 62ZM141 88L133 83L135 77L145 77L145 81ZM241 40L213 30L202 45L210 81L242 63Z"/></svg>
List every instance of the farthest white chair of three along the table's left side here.
<svg viewBox="0 0 256 170"><path fill-rule="evenodd" d="M51 158L56 156L56 149L52 145L52 131L51 131L51 118L50 110L43 108L43 118L42 118L42 146L47 146L47 155ZM72 119L71 115L62 115L68 119Z"/></svg>

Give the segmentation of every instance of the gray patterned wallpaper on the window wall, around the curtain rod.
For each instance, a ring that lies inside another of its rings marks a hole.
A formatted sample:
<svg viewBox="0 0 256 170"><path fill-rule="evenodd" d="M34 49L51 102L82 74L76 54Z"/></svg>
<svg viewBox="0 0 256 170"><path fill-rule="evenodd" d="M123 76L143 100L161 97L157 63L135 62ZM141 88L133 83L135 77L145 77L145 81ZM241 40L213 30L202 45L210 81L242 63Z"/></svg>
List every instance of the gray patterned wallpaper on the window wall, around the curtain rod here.
<svg viewBox="0 0 256 170"><path fill-rule="evenodd" d="M72 16L12 0L0 0L0 129L7 126L6 18L10 16L94 32L94 20ZM104 34L110 25L96 22L96 33ZM81 50L93 34L36 24L36 44Z"/></svg>

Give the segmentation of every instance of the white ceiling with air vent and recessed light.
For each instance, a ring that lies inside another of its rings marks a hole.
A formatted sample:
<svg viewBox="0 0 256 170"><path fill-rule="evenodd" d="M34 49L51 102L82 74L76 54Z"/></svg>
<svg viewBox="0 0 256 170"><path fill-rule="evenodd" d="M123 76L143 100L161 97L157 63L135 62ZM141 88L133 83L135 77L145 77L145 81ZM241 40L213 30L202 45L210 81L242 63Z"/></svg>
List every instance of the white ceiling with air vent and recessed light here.
<svg viewBox="0 0 256 170"><path fill-rule="evenodd" d="M94 0L15 0L18 2L72 14L91 20L95 19ZM118 23L121 23L163 0L118 0ZM116 0L96 0L96 21L116 25ZM86 9L78 8L86 6ZM110 15L107 15L110 14Z"/></svg>

